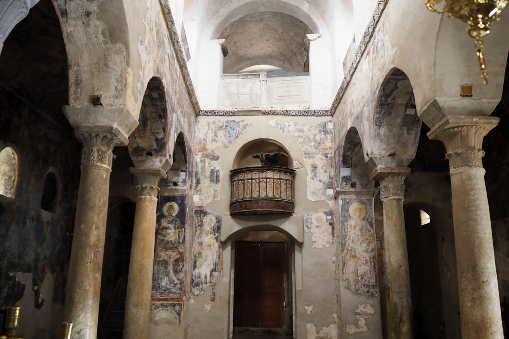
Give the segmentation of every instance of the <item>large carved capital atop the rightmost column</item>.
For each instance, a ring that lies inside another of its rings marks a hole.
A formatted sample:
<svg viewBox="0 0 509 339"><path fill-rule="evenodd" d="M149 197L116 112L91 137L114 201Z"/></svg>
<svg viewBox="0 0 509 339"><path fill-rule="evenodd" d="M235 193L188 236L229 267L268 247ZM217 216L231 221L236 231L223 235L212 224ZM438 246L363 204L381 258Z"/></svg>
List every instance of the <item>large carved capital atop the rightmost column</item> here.
<svg viewBox="0 0 509 339"><path fill-rule="evenodd" d="M450 173L483 168L483 139L498 125L494 116L448 116L428 133L431 140L444 143Z"/></svg>

